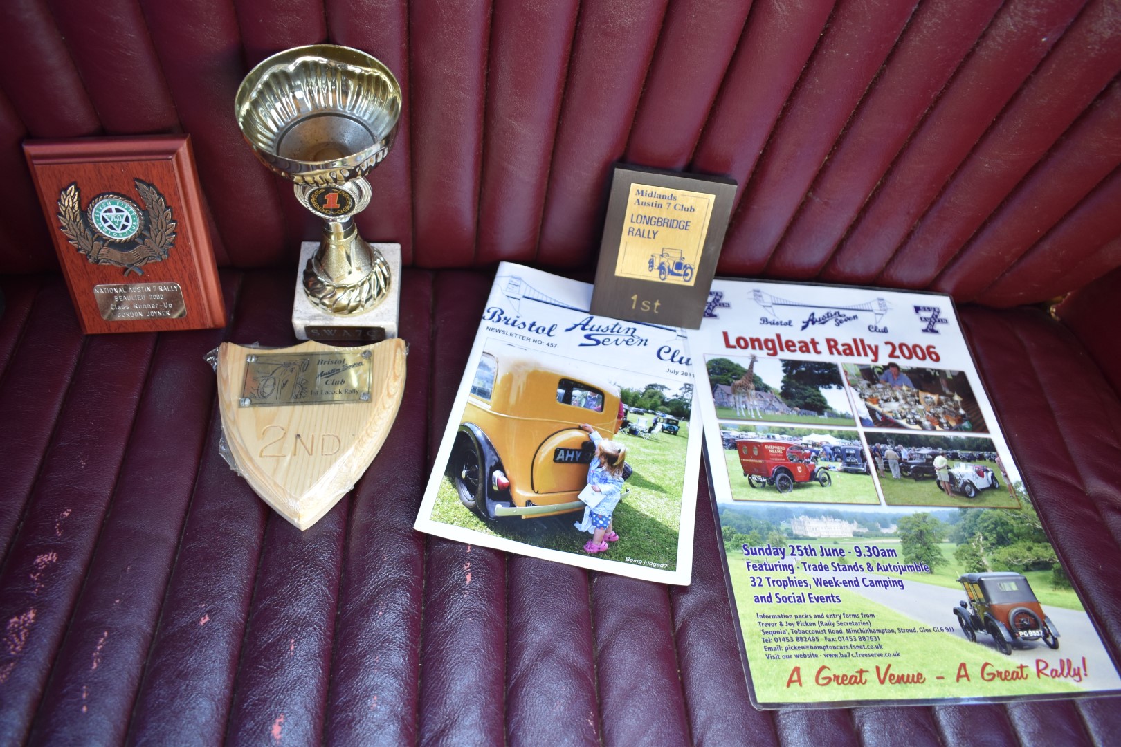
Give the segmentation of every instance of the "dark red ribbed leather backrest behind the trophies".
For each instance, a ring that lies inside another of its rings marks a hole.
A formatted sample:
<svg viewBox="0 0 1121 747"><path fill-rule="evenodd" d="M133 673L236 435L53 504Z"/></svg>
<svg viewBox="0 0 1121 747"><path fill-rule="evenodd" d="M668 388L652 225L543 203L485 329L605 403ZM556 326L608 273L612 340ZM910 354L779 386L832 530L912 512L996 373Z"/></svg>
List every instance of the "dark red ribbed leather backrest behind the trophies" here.
<svg viewBox="0 0 1121 747"><path fill-rule="evenodd" d="M55 265L25 137L189 132L222 264L316 236L233 94L370 52L406 94L359 220L407 262L586 267L617 160L740 184L720 271L1009 306L1121 265L1117 0L11 0L0 271Z"/></svg>

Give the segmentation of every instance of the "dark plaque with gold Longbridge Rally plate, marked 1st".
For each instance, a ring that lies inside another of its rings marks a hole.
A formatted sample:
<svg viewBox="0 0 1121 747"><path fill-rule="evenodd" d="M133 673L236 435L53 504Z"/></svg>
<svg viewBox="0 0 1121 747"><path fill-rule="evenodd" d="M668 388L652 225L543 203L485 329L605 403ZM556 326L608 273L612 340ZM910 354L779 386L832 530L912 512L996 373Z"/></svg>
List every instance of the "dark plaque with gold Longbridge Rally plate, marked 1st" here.
<svg viewBox="0 0 1121 747"><path fill-rule="evenodd" d="M732 179L617 166L592 314L700 327L734 196Z"/></svg>

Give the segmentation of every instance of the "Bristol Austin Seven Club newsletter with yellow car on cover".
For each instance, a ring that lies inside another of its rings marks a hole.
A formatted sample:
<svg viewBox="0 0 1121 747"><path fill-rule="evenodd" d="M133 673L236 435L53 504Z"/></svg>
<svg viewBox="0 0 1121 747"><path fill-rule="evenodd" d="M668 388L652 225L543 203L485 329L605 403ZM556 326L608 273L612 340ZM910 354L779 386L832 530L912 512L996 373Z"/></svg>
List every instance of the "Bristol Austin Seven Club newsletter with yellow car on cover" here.
<svg viewBox="0 0 1121 747"><path fill-rule="evenodd" d="M591 298L499 265L416 529L688 583L702 439L685 333L591 315Z"/></svg>

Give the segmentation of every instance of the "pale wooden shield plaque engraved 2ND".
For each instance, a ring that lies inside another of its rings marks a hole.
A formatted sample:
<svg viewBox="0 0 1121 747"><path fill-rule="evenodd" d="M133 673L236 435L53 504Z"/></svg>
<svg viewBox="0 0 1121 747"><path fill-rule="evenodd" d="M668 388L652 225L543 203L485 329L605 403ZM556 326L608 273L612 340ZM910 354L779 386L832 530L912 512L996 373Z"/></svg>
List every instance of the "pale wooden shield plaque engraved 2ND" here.
<svg viewBox="0 0 1121 747"><path fill-rule="evenodd" d="M405 391L405 342L279 349L223 343L217 387L237 469L305 530L354 486L386 441Z"/></svg>

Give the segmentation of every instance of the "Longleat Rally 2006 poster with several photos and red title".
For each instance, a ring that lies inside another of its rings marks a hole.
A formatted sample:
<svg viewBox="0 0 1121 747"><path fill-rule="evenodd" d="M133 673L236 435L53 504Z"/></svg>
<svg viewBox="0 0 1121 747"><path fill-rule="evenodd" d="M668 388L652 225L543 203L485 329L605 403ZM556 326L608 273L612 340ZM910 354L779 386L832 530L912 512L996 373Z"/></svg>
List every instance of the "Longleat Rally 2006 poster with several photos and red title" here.
<svg viewBox="0 0 1121 747"><path fill-rule="evenodd" d="M949 297L717 280L689 349L756 707L1119 689Z"/></svg>

